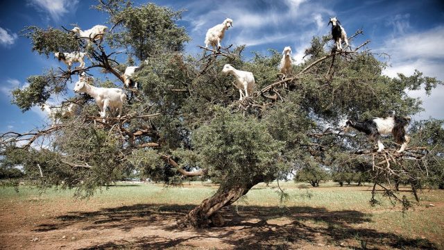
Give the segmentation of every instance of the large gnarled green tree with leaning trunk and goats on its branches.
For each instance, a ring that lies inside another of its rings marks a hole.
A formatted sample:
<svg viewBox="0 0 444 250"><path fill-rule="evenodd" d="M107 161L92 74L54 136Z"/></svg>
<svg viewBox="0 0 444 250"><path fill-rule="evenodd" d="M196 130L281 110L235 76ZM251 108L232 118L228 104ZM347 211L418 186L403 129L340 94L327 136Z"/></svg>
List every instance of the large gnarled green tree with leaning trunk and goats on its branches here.
<svg viewBox="0 0 444 250"><path fill-rule="evenodd" d="M182 11L117 0L99 1L94 8L109 15L111 28L102 44L76 38L69 28L26 29L40 55L85 51L89 62L83 69L49 69L30 76L28 87L12 92L12 102L24 111L40 106L51 95L71 92L68 83L83 72L94 76L95 85L123 88L121 72L131 65L140 66L133 78L141 88L127 90L130 98L120 118L103 122L91 98L76 96L67 101L78 103L80 114L29 133L1 135L2 167L23 165L30 181L42 188L76 188L76 194L88 196L133 171L167 183L211 178L219 190L182 224L220 226L221 208L257 183L284 178L295 169L366 163L375 185L398 199L387 185L389 175L407 178L418 188L428 180L426 168L443 163L442 153L436 153L442 151L442 138L432 147L429 139L412 135L413 151L375 154L364 136L340 131L339 122L346 117L414 115L421 110L420 101L407 90L425 88L429 94L441 84L420 72L383 76L386 65L369 49L369 41L334 51L329 36L313 38L305 63L294 65L294 74L282 79L275 50L255 53L251 60L244 59L244 46L189 56L189 37L176 24ZM351 44L357 36L364 35L357 31ZM253 72L253 97L237 100L232 78L221 74L226 63ZM368 152L357 153L362 150Z"/></svg>

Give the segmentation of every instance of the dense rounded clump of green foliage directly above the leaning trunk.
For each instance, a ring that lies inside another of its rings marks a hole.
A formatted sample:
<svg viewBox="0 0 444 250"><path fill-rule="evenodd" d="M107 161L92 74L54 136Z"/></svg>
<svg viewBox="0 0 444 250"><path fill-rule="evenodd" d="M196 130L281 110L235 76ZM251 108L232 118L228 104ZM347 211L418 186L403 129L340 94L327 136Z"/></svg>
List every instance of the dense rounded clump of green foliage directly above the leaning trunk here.
<svg viewBox="0 0 444 250"><path fill-rule="evenodd" d="M200 167L223 186L273 181L283 143L272 138L264 123L215 107L215 116L192 135Z"/></svg>

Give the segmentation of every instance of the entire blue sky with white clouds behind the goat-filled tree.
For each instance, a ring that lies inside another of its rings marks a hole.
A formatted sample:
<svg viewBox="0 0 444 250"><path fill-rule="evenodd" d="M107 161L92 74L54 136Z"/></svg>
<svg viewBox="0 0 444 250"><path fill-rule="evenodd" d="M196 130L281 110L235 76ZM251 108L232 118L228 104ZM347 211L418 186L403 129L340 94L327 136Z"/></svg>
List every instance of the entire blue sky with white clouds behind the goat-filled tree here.
<svg viewBox="0 0 444 250"><path fill-rule="evenodd" d="M371 40L368 48L375 53L391 55L384 74L395 77L397 72L407 75L419 69L427 76L444 81L444 1L153 1L174 10L185 8L182 20L192 40L186 53L198 53L196 45L203 45L208 28L230 17L233 28L225 33L223 44L246 44L246 58L251 51L267 53L267 49L282 51L291 46L296 62L302 60L303 51L314 35L330 33L329 17L336 16L348 35L359 28L364 35L352 46ZM135 1L135 5L146 1ZM10 90L26 85L26 78L41 74L51 67L65 67L52 57L31 52L31 43L20 36L24 26L40 27L78 24L90 28L105 24L106 16L89 9L92 1L79 0L26 0L0 3L0 133L25 132L48 122L46 113L32 108L22 113L10 104ZM112 78L113 76L110 76ZM74 93L69 90L67 95ZM425 112L415 119L434 117L444 119L444 87L427 97L424 92L411 91L420 97ZM53 97L57 103L64 97Z"/></svg>

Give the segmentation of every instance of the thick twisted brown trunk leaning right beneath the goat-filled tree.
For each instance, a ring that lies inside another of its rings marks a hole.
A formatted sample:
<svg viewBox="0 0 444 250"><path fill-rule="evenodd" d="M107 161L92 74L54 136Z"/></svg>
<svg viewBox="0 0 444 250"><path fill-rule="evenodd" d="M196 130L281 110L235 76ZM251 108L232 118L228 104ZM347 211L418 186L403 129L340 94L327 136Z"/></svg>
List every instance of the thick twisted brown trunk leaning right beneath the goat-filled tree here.
<svg viewBox="0 0 444 250"><path fill-rule="evenodd" d="M218 211L224 206L229 206L234 203L234 201L237 201L237 199L246 194L250 188L253 188L253 185L225 189L219 188L216 194L203 200L199 206L191 210L184 221L182 221L182 225L194 228L203 228L210 226L210 224L223 226L223 217Z"/></svg>

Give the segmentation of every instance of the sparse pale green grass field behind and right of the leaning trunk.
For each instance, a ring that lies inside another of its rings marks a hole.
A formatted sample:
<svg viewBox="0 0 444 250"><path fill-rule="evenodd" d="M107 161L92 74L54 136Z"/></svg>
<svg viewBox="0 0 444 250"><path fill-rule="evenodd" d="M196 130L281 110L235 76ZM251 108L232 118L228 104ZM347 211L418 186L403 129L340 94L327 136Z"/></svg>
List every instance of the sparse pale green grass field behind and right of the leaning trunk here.
<svg viewBox="0 0 444 250"><path fill-rule="evenodd" d="M232 206L235 213L258 210L257 217L266 217L269 222L282 224L295 220L295 223L309 225L316 230L343 233L340 239L347 240L350 246L359 247L362 239L375 238L374 232L384 238L399 237L404 240L400 248L422 248L422 241L433 244L437 249L444 248L444 192L442 190L422 190L421 202L407 213L401 212L399 204L393 204L384 197L377 197L381 205L370 206L371 187L355 185L339 187L335 183L322 183L319 188L309 188L304 183L280 183L288 194L282 203L278 194L277 183L255 186L245 199ZM14 206L38 205L43 210L56 213L58 204L78 210L133 206L135 204L158 204L151 208L159 213L174 210L174 206L187 210L198 205L203 199L216 192L217 186L211 183L184 183L182 186L165 187L153 183L118 183L115 186L99 190L90 199L74 199L73 190L48 189L44 193L33 188L0 188L2 213ZM401 189L401 195L411 197L407 188ZM404 190L404 191L403 191ZM432 205L429 205L432 204ZM169 206L164 206L169 205ZM185 206L185 207L184 207ZM255 217L254 213L251 216ZM290 218L290 219L289 219ZM365 231L364 231L365 229ZM366 234L366 232L373 232ZM364 232L364 233L363 233ZM364 235L363 235L364 234ZM376 234L377 235L377 234ZM384 235L392 235L390 237ZM395 236L393 236L395 235ZM337 238L335 238L337 240ZM385 239L386 240L386 239ZM412 244L411 246L409 244ZM393 247L393 246L392 246ZM390 249L391 247L388 247ZM426 247L427 248L427 247Z"/></svg>

